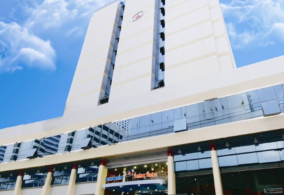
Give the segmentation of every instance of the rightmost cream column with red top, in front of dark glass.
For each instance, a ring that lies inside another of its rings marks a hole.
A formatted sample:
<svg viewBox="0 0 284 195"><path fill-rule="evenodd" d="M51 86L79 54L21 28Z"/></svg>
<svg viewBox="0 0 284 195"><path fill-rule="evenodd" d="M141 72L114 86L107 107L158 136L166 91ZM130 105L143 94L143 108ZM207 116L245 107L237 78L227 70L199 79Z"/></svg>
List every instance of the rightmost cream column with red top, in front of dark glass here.
<svg viewBox="0 0 284 195"><path fill-rule="evenodd" d="M216 151L215 145L211 145L211 160L212 160L215 194L223 195L221 174L220 174L217 151Z"/></svg>

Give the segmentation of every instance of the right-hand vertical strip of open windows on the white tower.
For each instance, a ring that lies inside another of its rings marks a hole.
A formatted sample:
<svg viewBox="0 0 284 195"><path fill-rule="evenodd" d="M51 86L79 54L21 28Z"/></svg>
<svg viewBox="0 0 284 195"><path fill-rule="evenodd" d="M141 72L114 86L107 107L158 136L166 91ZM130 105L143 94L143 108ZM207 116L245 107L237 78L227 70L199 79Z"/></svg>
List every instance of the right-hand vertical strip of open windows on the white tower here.
<svg viewBox="0 0 284 195"><path fill-rule="evenodd" d="M155 56L155 80L154 89L164 87L165 71L165 0L157 0L156 7L156 56Z"/></svg>

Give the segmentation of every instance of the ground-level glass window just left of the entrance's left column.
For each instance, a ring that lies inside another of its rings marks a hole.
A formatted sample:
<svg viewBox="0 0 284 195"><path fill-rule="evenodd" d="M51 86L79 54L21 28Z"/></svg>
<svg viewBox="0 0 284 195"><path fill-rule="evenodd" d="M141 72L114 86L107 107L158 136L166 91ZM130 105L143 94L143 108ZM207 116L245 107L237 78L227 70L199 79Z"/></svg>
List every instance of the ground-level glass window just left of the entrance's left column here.
<svg viewBox="0 0 284 195"><path fill-rule="evenodd" d="M99 166L80 167L77 170L76 183L97 181Z"/></svg>

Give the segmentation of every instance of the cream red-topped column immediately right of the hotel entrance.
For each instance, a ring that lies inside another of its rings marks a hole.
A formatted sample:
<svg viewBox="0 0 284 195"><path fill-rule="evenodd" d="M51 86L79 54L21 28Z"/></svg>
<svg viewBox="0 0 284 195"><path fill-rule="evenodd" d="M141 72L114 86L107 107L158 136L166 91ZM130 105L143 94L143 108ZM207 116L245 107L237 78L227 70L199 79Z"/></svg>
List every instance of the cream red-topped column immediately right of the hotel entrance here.
<svg viewBox="0 0 284 195"><path fill-rule="evenodd" d="M175 166L172 150L168 151L168 194L175 194Z"/></svg>

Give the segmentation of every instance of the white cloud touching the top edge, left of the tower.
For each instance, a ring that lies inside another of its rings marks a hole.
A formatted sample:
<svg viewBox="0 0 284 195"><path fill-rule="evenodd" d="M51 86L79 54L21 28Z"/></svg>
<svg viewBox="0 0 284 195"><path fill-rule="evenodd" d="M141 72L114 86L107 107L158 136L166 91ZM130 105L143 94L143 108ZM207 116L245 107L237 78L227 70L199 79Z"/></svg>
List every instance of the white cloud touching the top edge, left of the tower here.
<svg viewBox="0 0 284 195"><path fill-rule="evenodd" d="M45 0L25 22L34 32L59 27L74 27L88 23L94 10L110 0ZM82 23L82 20L86 20ZM79 22L81 21L81 22ZM82 27L82 26L80 26ZM67 35L67 34L66 34ZM70 35L70 34L68 34Z"/></svg>

